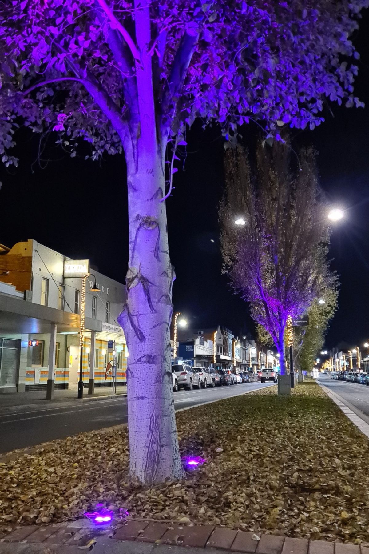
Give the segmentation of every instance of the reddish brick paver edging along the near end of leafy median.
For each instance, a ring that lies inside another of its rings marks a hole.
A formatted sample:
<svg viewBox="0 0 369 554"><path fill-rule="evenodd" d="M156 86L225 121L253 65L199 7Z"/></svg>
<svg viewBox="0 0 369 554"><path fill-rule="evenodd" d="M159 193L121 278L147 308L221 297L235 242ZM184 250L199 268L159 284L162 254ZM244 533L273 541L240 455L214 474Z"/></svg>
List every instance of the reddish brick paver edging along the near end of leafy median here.
<svg viewBox="0 0 369 554"><path fill-rule="evenodd" d="M113 526L114 527L114 526ZM113 533L112 533L113 532ZM180 525L159 521L128 520L126 524L96 527L87 520L40 527L25 525L3 535L1 542L85 546L93 537L108 535L113 541L151 542L194 548L220 548L245 554L369 554L369 544L310 541L278 535L254 534L214 525ZM106 552L110 551L106 543Z"/></svg>

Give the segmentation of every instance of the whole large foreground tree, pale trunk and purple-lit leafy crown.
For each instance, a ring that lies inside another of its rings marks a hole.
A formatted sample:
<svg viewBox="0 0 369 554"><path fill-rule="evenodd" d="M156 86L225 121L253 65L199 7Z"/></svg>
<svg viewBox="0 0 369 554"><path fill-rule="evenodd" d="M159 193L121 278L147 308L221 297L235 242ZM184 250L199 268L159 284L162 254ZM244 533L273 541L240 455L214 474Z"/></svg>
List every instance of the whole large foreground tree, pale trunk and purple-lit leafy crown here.
<svg viewBox="0 0 369 554"><path fill-rule="evenodd" d="M171 291L165 199L185 131L219 122L228 142L261 120L314 129L328 99L360 105L350 35L368 0L12 0L0 5L0 154L19 125L92 160L124 152L131 474L183 469L170 372ZM53 133L54 131L54 133ZM278 136L277 136L278 138ZM168 162L168 163L166 163ZM167 168L167 169L166 169ZM120 211L118 210L118 213ZM118 253L117 253L118 255ZM147 377L150 376L150 386Z"/></svg>

